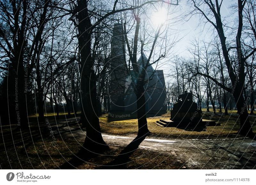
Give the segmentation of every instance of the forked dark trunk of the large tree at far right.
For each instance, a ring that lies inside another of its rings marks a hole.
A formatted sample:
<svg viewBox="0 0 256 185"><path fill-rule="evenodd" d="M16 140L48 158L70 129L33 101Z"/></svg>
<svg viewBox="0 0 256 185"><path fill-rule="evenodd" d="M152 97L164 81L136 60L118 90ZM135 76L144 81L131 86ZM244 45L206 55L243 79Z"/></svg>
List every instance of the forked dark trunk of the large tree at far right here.
<svg viewBox="0 0 256 185"><path fill-rule="evenodd" d="M237 0L237 12L238 12L238 27L237 27L237 34L236 34L236 54L237 54L237 71L235 73L235 69L232 67L232 62L230 60L230 56L228 53L228 47L226 45L226 36L224 34L224 29L223 29L223 22L221 20L221 15L220 15L220 5L219 1L215 1L215 5L212 2L212 0L205 1L204 5L209 6L209 10L213 13L214 18L216 20L216 24L210 21L210 19L207 17L206 14L203 13L203 10L200 9L196 3L194 2L194 6L196 7L196 10L199 11L216 29L218 32L220 42L221 42L221 49L223 53L223 57L225 59L225 63L228 69L228 75L230 78L230 81L232 82L232 89L230 89L230 93L233 94L235 101L236 101L236 107L237 107L237 112L240 114L240 130L239 134L247 135L249 134L250 136L253 137L252 133L252 128L248 119L248 112L247 110L243 110L243 106L245 104L244 97L242 96L243 94L243 88L244 88L244 82L245 82L245 58L242 53L242 47L241 47L241 35L242 35L242 30L243 30L243 8L244 5L246 4L246 1L243 0ZM249 55L247 55L249 56ZM226 88L228 89L228 88Z"/></svg>

